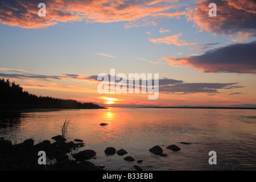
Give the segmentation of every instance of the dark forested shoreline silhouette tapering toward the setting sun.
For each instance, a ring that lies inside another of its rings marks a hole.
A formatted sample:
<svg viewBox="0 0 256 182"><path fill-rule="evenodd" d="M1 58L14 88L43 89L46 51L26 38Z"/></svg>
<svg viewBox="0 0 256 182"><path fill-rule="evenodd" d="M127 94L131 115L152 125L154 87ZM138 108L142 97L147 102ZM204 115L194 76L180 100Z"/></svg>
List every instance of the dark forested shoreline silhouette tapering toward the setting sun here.
<svg viewBox="0 0 256 182"><path fill-rule="evenodd" d="M103 109L92 102L81 103L76 100L36 96L23 91L22 86L0 78L0 108L1 109Z"/></svg>

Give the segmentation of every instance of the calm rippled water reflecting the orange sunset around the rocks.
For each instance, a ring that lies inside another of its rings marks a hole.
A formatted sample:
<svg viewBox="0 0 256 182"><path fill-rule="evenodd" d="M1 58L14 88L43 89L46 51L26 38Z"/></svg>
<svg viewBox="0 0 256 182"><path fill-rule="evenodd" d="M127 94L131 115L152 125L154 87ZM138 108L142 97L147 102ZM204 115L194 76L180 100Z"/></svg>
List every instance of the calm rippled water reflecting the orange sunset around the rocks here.
<svg viewBox="0 0 256 182"><path fill-rule="evenodd" d="M70 120L68 140L82 139L92 149L96 165L107 170L255 170L256 110L238 109L156 109L110 108L98 110L27 110L13 118L2 118L0 137L14 136L16 142L34 138L35 143L61 134L61 125ZM108 123L100 126L100 123ZM53 142L53 140L51 140ZM192 144L181 144L191 142ZM176 144L174 152L166 147ZM159 145L167 156L148 150ZM125 149L139 164L125 156L106 156L106 147ZM217 164L208 163L209 151L216 151ZM75 153L78 151L72 151ZM70 155L72 158L72 155Z"/></svg>

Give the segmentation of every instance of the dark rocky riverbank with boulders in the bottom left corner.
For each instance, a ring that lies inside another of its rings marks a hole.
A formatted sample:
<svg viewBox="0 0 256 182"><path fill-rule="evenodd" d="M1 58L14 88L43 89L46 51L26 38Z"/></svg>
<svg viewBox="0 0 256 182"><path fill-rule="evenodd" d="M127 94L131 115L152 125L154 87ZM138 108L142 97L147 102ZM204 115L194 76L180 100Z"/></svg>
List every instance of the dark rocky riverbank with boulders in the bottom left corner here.
<svg viewBox="0 0 256 182"><path fill-rule="evenodd" d="M66 142L61 135L56 136L53 143L43 140L38 144L34 144L31 138L19 144L12 144L10 140L1 138L0 171L102 171L103 166L95 166L85 160L78 162L70 159L77 149L83 146L81 141ZM45 165L39 164L39 151L46 152ZM86 159L95 155L89 155Z"/></svg>

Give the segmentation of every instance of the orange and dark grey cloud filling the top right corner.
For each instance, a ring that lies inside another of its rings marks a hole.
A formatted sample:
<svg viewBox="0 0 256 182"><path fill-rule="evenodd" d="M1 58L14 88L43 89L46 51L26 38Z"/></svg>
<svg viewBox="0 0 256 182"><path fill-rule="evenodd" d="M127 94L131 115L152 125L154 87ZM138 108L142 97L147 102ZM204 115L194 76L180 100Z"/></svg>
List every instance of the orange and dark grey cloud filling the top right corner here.
<svg viewBox="0 0 256 182"><path fill-rule="evenodd" d="M210 17L209 3L216 3L217 16ZM200 30L212 31L220 35L246 33L256 36L256 3L254 0L200 0L196 7L187 8L188 20Z"/></svg>

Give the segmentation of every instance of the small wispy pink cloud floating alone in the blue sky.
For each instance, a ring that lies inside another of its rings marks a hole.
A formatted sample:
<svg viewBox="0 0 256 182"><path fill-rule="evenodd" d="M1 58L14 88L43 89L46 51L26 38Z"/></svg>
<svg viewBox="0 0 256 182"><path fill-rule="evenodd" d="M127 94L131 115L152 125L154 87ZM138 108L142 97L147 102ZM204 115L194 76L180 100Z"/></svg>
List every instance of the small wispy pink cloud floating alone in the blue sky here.
<svg viewBox="0 0 256 182"><path fill-rule="evenodd" d="M176 46L189 46L194 45L195 43L187 43L185 40L179 40L180 34L174 34L171 36L166 36L164 38L150 38L150 42L153 42L155 44L175 44Z"/></svg>

